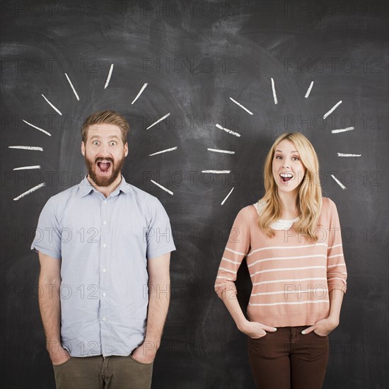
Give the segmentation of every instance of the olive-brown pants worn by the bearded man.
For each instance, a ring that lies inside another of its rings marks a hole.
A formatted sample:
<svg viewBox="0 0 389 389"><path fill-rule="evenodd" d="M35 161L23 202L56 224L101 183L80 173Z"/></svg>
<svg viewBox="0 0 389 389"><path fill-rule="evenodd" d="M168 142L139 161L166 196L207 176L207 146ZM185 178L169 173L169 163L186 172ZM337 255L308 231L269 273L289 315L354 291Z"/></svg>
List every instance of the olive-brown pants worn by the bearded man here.
<svg viewBox="0 0 389 389"><path fill-rule="evenodd" d="M53 365L57 389L149 389L153 364L132 356L76 357Z"/></svg>

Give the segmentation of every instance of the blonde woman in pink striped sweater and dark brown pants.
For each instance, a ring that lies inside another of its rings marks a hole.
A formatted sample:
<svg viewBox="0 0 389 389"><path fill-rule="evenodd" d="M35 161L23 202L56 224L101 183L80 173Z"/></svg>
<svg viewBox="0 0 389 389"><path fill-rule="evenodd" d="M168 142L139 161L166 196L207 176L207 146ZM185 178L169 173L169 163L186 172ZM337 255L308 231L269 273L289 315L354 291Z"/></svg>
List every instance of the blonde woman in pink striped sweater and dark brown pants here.
<svg viewBox="0 0 389 389"><path fill-rule="evenodd" d="M339 324L347 272L337 207L322 198L318 171L310 141L281 134L265 161L265 196L240 210L221 259L215 290L248 335L257 388L323 385L327 335ZM245 257L248 320L234 284Z"/></svg>

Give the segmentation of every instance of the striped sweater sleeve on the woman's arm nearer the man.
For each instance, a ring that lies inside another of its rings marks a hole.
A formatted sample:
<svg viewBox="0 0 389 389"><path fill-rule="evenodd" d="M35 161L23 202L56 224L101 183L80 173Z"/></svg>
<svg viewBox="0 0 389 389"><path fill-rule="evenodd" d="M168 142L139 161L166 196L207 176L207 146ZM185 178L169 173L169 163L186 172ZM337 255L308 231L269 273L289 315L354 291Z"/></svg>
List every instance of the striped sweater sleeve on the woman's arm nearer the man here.
<svg viewBox="0 0 389 389"><path fill-rule="evenodd" d="M233 290L236 294L236 273L243 258L250 249L250 226L248 207L241 209L236 216L215 281L216 294L221 298L223 291Z"/></svg>

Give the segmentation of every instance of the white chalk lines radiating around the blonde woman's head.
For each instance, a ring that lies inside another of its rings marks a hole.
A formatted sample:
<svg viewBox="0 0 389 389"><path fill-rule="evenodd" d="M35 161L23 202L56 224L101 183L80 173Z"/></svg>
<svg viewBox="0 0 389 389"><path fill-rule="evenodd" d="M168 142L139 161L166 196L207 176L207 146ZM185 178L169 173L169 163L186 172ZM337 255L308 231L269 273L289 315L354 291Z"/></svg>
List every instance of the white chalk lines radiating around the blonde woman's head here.
<svg viewBox="0 0 389 389"><path fill-rule="evenodd" d="M272 86L272 95L273 95L273 100L274 100L274 105L277 105L278 104L278 99L277 99L277 91L276 91L276 83L273 79L273 77L270 77L270 84ZM310 92L312 91L313 89L313 84L314 84L314 81L310 81L310 84L308 86L308 90L306 91L306 94L304 95L304 98L309 98L309 95L310 95ZM234 98L230 97L230 100L235 103L236 105L238 105L238 107L242 108L243 110L245 110L245 112L248 112L249 115L254 115L254 113L249 110L248 108L246 108L243 104L241 104L240 102L238 102L237 100L235 100ZM334 112L338 107L339 105L342 104L342 100L340 100L338 103L336 103L330 110L328 110L327 112L325 112L325 114L323 115L323 120L325 120L329 115L332 114L332 112ZM223 127L221 126L221 124L219 123L216 123L216 128L219 128L219 129L222 129L224 132L226 132L227 134L230 134L230 135L233 135L234 137L238 137L240 138L240 134L238 132L234 132L232 131L231 129L228 129L226 127ZM341 132L347 132L347 131L352 131L354 129L354 127L346 127L346 128L342 128L342 129L332 129L331 130L331 133L332 134L339 134ZM230 151L230 150L221 150L221 149L207 149L208 151L212 151L214 153L225 153L225 154L230 154L230 155L233 155L235 154L235 151ZM350 153L337 153L337 156L338 157L360 157L361 154L350 154ZM231 170L202 170L202 173L212 173L212 174L228 174L228 173L231 173ZM344 187L344 185L342 184L342 182L340 182L339 180L337 180L337 178L335 178L334 175L331 175L332 178L335 180L335 182L337 182L337 184L342 188L342 190L345 190L347 189L346 187ZM226 200L228 199L228 197L230 196L230 194L233 192L233 189L232 188L230 190L230 192L228 192L227 196L223 199L223 201L221 202L221 205L223 205Z"/></svg>

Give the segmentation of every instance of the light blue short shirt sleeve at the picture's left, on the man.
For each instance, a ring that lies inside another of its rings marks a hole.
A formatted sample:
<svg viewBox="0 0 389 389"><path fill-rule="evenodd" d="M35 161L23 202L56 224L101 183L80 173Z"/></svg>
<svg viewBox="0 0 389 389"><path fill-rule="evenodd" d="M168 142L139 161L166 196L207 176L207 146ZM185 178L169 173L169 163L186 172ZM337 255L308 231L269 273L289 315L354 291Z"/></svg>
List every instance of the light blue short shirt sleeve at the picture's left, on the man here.
<svg viewBox="0 0 389 389"><path fill-rule="evenodd" d="M54 202L50 198L40 212L35 238L31 250L40 251L57 260L61 259L61 232L54 212Z"/></svg>

